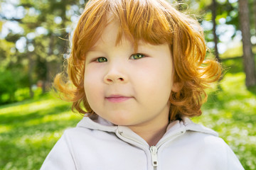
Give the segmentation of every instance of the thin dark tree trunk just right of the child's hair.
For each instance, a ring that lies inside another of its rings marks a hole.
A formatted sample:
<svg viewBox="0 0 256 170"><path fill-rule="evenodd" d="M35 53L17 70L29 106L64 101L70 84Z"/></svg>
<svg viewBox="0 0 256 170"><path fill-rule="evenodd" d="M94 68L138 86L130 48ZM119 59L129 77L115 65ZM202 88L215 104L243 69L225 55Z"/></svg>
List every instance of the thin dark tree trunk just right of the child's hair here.
<svg viewBox="0 0 256 170"><path fill-rule="evenodd" d="M256 1L256 0L255 0ZM213 36L214 36L214 43L215 43L215 58L216 60L218 60L218 62L220 62L220 57L218 55L218 36L216 34L216 8L217 8L217 3L216 0L213 0L213 4L212 4L212 22L213 22Z"/></svg>

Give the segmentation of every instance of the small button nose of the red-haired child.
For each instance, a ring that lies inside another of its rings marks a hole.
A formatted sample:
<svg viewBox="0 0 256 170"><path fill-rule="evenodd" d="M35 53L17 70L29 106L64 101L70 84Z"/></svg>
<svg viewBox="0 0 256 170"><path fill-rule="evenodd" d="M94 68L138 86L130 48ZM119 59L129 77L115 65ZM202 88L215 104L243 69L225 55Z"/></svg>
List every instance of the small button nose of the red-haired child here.
<svg viewBox="0 0 256 170"><path fill-rule="evenodd" d="M106 84L124 84L127 83L128 78L124 73L124 70L121 70L121 68L118 69L117 67L111 67L105 75L104 81Z"/></svg>

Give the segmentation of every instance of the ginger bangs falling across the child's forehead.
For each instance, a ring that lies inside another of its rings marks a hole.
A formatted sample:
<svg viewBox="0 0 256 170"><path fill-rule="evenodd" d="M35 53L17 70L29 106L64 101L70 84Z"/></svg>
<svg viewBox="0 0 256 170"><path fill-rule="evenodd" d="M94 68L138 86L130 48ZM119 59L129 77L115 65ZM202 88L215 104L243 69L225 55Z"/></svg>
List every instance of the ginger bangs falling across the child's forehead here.
<svg viewBox="0 0 256 170"><path fill-rule="evenodd" d="M78 26L78 40L82 47L76 57L82 57L102 35L108 23L119 23L117 44L122 37L129 38L137 48L139 40L151 45L172 44L174 28L171 26L169 4L162 1L95 0L85 6ZM167 9L168 8L168 9ZM81 53L80 53L81 52ZM82 59L82 58L81 58Z"/></svg>

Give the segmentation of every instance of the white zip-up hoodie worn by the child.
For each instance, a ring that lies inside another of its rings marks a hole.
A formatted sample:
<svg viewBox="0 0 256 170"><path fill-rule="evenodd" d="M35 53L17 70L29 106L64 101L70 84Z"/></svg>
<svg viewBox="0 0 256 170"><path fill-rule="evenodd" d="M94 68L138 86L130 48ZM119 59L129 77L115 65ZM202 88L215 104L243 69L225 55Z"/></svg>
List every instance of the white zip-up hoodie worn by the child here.
<svg viewBox="0 0 256 170"><path fill-rule="evenodd" d="M189 118L171 122L156 146L124 126L83 118L65 130L41 170L221 170L243 169L213 130Z"/></svg>

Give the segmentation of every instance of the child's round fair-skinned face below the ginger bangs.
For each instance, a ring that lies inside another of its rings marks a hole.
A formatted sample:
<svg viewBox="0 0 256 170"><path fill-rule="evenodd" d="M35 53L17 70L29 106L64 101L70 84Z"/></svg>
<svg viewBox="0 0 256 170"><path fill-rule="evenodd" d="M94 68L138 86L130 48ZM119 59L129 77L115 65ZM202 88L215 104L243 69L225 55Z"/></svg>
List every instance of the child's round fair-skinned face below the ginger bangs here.
<svg viewBox="0 0 256 170"><path fill-rule="evenodd" d="M126 38L115 45L117 23L87 52L85 95L97 115L130 128L168 122L173 65L169 45L139 44Z"/></svg>

